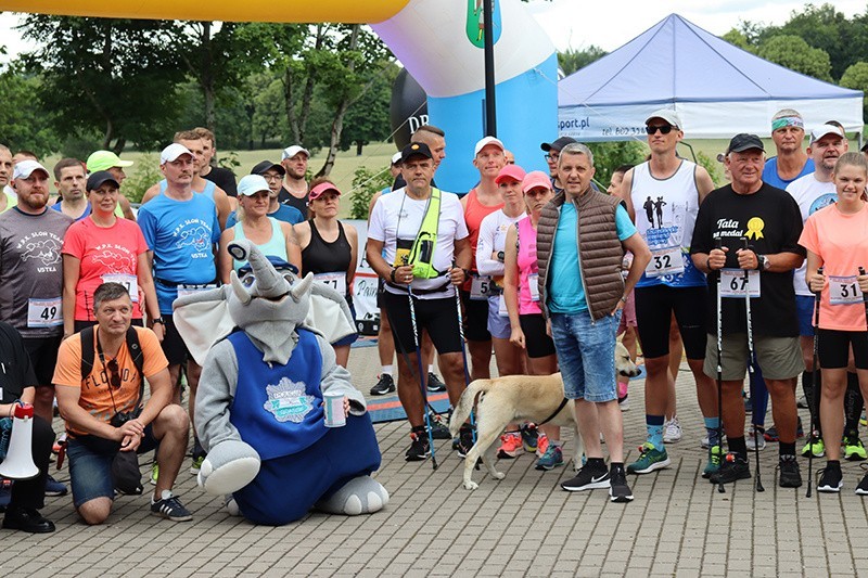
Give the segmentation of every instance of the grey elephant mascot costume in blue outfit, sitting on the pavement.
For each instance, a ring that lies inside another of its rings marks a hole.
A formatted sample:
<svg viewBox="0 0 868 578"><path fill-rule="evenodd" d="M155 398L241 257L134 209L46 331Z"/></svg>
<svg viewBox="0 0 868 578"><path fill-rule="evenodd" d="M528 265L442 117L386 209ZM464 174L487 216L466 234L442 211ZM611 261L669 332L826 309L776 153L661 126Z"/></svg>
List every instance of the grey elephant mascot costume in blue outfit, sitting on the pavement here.
<svg viewBox="0 0 868 578"><path fill-rule="evenodd" d="M234 502L255 524L288 524L311 508L346 515L382 509L388 493L370 477L380 449L365 398L328 341L304 324L311 291L329 296L331 290L311 286L312 274L299 280L279 272L246 240L229 251L252 272L239 279L233 271L231 284L174 304L176 317L188 319L187 333L196 324L187 309L203 306L225 307L229 324L240 330L214 344L204 360L195 425L208 454L199 485L212 494L231 493L230 511ZM336 293L331 297L343 304ZM197 337L224 333L227 322L218 325L200 323ZM324 424L322 395L332 391L349 401L343 427Z"/></svg>

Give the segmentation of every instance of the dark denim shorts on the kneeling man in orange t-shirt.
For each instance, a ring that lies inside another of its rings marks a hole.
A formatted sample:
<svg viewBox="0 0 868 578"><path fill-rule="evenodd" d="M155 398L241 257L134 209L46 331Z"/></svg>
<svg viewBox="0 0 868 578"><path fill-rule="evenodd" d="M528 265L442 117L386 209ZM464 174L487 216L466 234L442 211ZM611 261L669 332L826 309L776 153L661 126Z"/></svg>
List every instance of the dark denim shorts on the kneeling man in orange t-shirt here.
<svg viewBox="0 0 868 578"><path fill-rule="evenodd" d="M71 437L66 447L66 455L69 458L69 485L73 487L73 503L76 508L97 498L114 500L115 496L112 462L117 453L114 449L117 445L102 438L97 438L91 444L88 440L90 437ZM136 452L145 453L156 446L153 428L148 424L144 428L144 438Z"/></svg>

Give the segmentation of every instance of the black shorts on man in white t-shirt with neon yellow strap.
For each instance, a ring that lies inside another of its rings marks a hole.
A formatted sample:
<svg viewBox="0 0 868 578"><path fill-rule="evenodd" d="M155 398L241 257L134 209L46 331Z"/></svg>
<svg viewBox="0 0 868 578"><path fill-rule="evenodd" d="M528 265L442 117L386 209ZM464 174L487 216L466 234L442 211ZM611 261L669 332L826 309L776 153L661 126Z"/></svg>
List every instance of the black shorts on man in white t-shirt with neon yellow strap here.
<svg viewBox="0 0 868 578"><path fill-rule="evenodd" d="M383 301L388 311L392 324L392 339L398 351L416 352L417 341L413 337L413 325L410 319L410 306L407 295L386 292ZM486 310L488 304L486 303ZM461 335L458 331L458 311L455 297L437 299L413 299L416 326L421 338L426 331L438 354L454 354L461 350ZM487 314L487 311L486 311ZM418 342L421 344L421 341Z"/></svg>

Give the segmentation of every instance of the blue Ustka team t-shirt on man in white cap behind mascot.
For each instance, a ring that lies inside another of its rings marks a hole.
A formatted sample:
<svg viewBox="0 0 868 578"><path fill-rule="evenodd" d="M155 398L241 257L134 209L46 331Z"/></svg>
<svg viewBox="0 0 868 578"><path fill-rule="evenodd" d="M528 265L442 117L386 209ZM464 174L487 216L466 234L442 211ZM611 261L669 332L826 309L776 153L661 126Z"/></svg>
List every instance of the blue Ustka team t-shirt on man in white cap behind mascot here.
<svg viewBox="0 0 868 578"><path fill-rule="evenodd" d="M177 287L169 283L205 284L217 279L214 245L220 240L217 206L208 197L194 194L176 201L159 194L139 209L139 227L154 252L154 279L159 312L171 314Z"/></svg>

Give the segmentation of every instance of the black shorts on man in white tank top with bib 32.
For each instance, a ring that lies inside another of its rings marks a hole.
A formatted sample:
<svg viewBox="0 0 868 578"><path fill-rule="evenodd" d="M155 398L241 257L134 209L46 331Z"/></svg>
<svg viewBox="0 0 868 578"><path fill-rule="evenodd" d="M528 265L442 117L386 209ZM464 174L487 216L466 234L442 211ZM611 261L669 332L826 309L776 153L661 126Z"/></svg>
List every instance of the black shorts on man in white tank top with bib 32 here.
<svg viewBox="0 0 868 578"><path fill-rule="evenodd" d="M663 357L669 352L669 325L672 313L678 322L687 359L705 359L707 332L706 307L709 290L700 287L669 287L652 285L636 287L636 330L646 359Z"/></svg>

